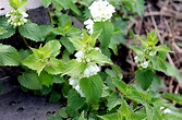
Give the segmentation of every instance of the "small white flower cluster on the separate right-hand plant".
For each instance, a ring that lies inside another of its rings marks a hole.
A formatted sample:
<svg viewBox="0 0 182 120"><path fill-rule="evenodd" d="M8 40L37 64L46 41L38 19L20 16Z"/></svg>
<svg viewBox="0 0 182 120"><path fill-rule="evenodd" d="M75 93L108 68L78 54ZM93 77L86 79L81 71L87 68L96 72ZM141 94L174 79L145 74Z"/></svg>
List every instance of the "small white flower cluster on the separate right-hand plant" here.
<svg viewBox="0 0 182 120"><path fill-rule="evenodd" d="M134 58L135 62L137 63L138 67L142 67L143 69L148 68L149 62L142 57L136 56Z"/></svg>

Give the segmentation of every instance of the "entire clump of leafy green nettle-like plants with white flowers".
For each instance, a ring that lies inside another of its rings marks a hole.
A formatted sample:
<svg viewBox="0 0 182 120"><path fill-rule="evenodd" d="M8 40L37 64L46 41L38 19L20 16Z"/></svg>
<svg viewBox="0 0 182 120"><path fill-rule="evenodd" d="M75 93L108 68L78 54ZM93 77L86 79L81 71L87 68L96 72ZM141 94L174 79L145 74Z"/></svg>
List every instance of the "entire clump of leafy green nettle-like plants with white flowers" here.
<svg viewBox="0 0 182 120"><path fill-rule="evenodd" d="M0 39L20 33L26 49L0 44L0 65L23 69L17 76L23 91L49 96L49 101L62 100L64 106L50 120L182 119L170 103L182 105L182 96L157 92L162 85L158 72L175 77L179 84L182 76L166 62L166 53L172 51L157 46L156 31L137 37L138 46L131 45L137 70L129 84L111 61L118 46L125 45L128 22L133 21L128 11L142 17L143 0L41 0L45 8L51 5L50 25L27 19L26 0L9 2L12 11L0 19ZM75 27L73 20L85 28Z"/></svg>

